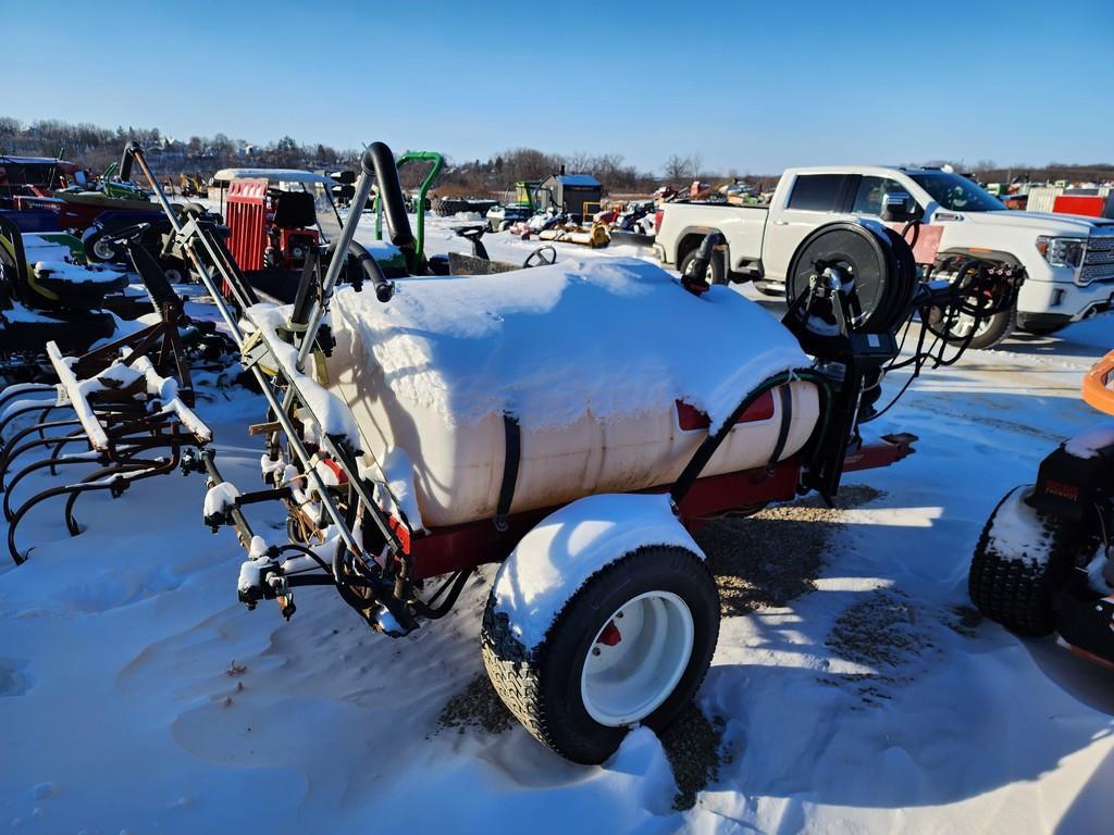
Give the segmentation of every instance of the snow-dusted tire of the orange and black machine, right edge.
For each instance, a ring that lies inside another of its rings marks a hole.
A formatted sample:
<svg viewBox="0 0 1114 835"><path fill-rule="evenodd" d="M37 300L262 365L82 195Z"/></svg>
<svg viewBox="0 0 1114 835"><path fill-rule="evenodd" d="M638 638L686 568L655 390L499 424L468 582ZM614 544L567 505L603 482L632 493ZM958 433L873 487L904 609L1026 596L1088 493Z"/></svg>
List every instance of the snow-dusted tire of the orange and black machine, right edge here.
<svg viewBox="0 0 1114 835"><path fill-rule="evenodd" d="M1025 503L1032 492L1032 484L1023 484L998 502L975 547L967 588L987 618L1037 637L1055 626L1054 603L1072 553L1057 521Z"/></svg>

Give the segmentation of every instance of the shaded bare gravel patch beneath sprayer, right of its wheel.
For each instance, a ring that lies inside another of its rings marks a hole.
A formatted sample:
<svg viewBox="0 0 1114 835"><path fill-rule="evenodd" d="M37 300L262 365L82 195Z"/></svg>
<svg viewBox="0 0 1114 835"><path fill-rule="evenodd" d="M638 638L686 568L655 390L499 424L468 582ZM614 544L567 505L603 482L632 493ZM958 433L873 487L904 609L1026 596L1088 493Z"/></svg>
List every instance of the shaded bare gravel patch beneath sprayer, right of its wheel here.
<svg viewBox="0 0 1114 835"><path fill-rule="evenodd" d="M724 617L780 609L815 590L824 552L841 527L842 511L882 492L848 484L828 508L818 495L766 508L752 517L717 519L696 541L707 554Z"/></svg>

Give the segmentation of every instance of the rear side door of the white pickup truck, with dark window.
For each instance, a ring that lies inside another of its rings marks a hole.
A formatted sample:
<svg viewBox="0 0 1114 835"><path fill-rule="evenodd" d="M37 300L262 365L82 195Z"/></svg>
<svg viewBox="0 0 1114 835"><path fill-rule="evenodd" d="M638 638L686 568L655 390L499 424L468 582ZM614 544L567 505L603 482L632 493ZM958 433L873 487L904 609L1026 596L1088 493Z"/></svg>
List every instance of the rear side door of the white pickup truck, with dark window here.
<svg viewBox="0 0 1114 835"><path fill-rule="evenodd" d="M793 253L818 226L838 219L850 197L849 174L799 174L785 205L772 208L762 245L764 278L784 282Z"/></svg>

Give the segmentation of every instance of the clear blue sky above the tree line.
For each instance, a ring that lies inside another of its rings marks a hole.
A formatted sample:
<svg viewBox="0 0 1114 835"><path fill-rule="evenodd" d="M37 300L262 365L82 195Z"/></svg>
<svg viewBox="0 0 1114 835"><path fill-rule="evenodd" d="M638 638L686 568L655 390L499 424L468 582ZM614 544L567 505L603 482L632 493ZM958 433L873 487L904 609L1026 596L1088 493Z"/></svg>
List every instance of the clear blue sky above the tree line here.
<svg viewBox="0 0 1114 835"><path fill-rule="evenodd" d="M0 0L0 115L659 169L1114 160L1114 0Z"/></svg>

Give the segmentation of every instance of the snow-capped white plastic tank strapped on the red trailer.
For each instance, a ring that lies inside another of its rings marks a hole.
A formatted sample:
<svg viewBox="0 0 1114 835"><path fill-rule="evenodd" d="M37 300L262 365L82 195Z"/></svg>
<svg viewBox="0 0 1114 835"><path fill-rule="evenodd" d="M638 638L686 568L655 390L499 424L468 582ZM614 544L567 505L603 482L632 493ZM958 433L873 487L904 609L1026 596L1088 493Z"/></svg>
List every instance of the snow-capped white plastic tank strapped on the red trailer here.
<svg viewBox="0 0 1114 835"><path fill-rule="evenodd" d="M428 525L495 514L505 414L521 429L511 512L556 507L670 483L706 436L678 428L677 401L714 429L768 377L809 365L756 304L725 287L693 296L634 258L401 279L388 304L344 288L333 328L330 381L377 462L398 450L412 462ZM818 415L810 383L790 390L781 458L804 444ZM769 419L732 431L706 473L769 462L778 400Z"/></svg>

